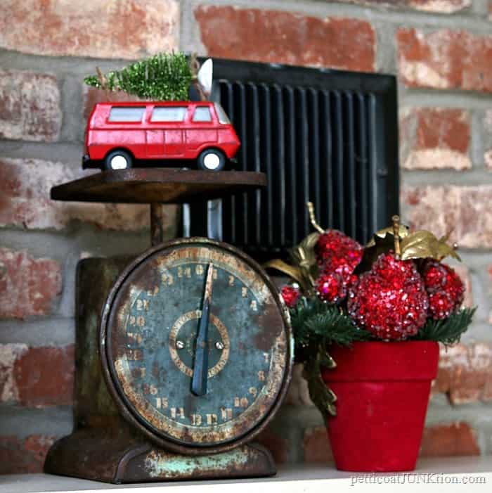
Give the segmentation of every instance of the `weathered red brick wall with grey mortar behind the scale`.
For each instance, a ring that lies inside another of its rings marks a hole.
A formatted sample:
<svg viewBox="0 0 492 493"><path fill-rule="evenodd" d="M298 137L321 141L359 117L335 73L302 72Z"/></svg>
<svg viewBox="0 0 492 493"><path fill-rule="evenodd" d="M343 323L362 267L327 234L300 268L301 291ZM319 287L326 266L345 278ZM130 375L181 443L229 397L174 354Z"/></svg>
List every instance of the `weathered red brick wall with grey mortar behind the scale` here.
<svg viewBox="0 0 492 493"><path fill-rule="evenodd" d="M479 305L462 344L442 351L422 455L491 453L491 13L486 0L4 0L0 473L38 472L70 433L77 261L148 246L145 207L48 199L83 174L94 95L82 77L171 49L399 75L402 215L436 233L454 226ZM301 371L261 441L280 462L330 461Z"/></svg>

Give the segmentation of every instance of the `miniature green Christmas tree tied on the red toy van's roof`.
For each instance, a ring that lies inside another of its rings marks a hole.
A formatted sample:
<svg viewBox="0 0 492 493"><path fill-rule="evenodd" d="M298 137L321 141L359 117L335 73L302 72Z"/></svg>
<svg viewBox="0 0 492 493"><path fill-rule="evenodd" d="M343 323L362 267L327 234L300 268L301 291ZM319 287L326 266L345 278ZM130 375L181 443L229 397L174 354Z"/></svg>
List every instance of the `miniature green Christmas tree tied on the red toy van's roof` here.
<svg viewBox="0 0 492 493"><path fill-rule="evenodd" d="M122 70L90 75L84 82L154 101L186 101L193 75L184 53L159 53Z"/></svg>

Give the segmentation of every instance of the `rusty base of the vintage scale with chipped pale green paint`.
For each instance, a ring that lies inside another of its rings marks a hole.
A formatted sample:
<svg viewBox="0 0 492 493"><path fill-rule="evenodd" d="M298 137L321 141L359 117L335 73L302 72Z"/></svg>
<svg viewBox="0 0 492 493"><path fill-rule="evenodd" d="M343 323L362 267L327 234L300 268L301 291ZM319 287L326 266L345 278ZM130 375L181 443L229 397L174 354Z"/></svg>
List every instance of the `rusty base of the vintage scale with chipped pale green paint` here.
<svg viewBox="0 0 492 493"><path fill-rule="evenodd" d="M44 472L112 483L262 478L276 474L267 449L247 444L229 452L185 456L127 435L78 430L51 447Z"/></svg>

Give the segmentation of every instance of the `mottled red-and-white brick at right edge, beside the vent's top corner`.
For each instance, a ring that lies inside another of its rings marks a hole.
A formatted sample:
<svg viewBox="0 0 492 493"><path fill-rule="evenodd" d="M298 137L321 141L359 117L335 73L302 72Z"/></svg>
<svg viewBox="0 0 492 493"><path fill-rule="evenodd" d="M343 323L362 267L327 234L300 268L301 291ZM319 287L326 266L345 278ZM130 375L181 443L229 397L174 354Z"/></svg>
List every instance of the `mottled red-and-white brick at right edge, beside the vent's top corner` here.
<svg viewBox="0 0 492 493"><path fill-rule="evenodd" d="M492 36L399 29L399 75L410 87L492 91Z"/></svg>

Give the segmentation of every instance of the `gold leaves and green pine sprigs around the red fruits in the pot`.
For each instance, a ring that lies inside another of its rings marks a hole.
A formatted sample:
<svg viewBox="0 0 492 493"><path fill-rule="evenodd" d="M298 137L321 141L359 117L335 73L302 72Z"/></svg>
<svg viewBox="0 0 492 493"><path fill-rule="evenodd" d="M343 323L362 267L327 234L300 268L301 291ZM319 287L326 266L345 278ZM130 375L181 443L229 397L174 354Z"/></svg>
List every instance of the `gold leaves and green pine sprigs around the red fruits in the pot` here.
<svg viewBox="0 0 492 493"><path fill-rule="evenodd" d="M347 300L339 305L323 302L316 293L319 259L316 245L324 231L316 223L312 203L306 204L311 224L316 233L311 233L291 252L292 264L283 260L271 260L265 267L276 269L292 278L300 291L299 297L290 308L290 320L294 333L296 361L304 364L304 378L309 386L309 395L323 416L335 416L337 397L327 388L322 378L323 368L334 368L336 361L330 357L330 345L350 346L353 342L377 341L373 333L356 326L347 314ZM397 257L413 260L417 264L429 258L441 261L446 256L460 260L453 245L448 245L448 236L436 238L429 231L410 233L406 226L399 224L399 217L393 217L393 226L377 231L373 240L365 245L363 259L354 274L368 271L382 253L394 251ZM422 267L422 265L420 265ZM408 340L428 340L451 345L460 340L472 322L475 309L465 308L452 313L446 319L434 320L429 317L416 335ZM387 342L388 344L394 342Z"/></svg>

